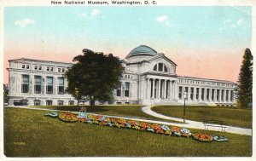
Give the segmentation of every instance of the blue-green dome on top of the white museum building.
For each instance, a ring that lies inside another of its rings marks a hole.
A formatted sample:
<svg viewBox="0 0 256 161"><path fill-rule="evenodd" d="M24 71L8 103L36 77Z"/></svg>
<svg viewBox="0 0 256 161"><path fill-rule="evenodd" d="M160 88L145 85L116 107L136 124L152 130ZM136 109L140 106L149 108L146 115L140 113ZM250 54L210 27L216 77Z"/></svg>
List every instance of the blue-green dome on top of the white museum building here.
<svg viewBox="0 0 256 161"><path fill-rule="evenodd" d="M157 55L157 52L146 45L141 45L135 49L132 49L129 55L126 56L126 58L130 58L131 56L137 56L137 55L153 56L153 55Z"/></svg>

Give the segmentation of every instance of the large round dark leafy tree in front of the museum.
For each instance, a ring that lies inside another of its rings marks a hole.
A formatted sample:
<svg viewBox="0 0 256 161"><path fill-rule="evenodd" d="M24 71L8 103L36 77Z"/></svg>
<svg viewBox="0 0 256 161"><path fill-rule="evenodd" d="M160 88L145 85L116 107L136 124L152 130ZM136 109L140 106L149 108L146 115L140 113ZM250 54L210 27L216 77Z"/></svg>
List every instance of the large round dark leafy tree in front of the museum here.
<svg viewBox="0 0 256 161"><path fill-rule="evenodd" d="M67 93L76 99L87 97L90 106L95 106L95 101L112 101L113 89L119 88L119 76L124 72L119 58L90 49L82 52L83 55L73 58L76 64L65 73Z"/></svg>

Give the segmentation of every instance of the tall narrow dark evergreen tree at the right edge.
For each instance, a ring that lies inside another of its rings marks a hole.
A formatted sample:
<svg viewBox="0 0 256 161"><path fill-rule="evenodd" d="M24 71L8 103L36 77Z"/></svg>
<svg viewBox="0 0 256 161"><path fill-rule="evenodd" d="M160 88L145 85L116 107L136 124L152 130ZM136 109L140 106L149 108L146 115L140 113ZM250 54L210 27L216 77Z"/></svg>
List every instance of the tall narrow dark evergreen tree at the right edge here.
<svg viewBox="0 0 256 161"><path fill-rule="evenodd" d="M253 55L246 49L241 63L237 85L238 106L252 107L253 103Z"/></svg>

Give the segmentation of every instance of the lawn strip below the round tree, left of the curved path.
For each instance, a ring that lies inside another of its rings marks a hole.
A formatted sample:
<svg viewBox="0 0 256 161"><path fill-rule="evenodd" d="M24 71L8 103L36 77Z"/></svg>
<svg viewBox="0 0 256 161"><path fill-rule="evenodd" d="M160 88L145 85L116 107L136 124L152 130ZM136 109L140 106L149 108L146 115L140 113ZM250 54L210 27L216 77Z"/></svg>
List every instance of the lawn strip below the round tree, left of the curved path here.
<svg viewBox="0 0 256 161"><path fill-rule="evenodd" d="M81 106L38 106L42 108L52 109L52 110L63 110L63 111L72 111L79 112ZM158 121L166 121L171 123L181 123L177 121L155 118L154 116L150 116L144 112L142 112L141 108L143 106L139 105L123 105L123 106L95 106L90 107L86 106L86 112L112 115L112 116L124 116L129 118L144 118Z"/></svg>

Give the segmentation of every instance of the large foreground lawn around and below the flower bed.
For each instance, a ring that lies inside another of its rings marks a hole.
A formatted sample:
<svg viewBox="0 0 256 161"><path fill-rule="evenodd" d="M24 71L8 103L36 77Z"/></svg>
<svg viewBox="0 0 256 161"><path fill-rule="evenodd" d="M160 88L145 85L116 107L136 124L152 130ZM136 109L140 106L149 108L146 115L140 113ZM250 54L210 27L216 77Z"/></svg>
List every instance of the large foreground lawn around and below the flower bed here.
<svg viewBox="0 0 256 161"><path fill-rule="evenodd" d="M252 156L252 137L224 135L230 142L201 143L96 124L65 123L45 111L4 108L4 153L8 157ZM193 129L195 132L197 129Z"/></svg>

